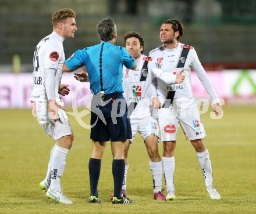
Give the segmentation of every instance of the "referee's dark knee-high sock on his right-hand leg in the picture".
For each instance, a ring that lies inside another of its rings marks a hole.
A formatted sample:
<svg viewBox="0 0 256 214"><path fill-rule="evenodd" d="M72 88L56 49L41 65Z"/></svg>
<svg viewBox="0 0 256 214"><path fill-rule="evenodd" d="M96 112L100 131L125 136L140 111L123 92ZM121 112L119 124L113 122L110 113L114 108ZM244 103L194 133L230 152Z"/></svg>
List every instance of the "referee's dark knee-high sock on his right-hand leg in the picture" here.
<svg viewBox="0 0 256 214"><path fill-rule="evenodd" d="M125 159L113 159L112 173L114 179L114 197L121 198L123 176L125 175Z"/></svg>

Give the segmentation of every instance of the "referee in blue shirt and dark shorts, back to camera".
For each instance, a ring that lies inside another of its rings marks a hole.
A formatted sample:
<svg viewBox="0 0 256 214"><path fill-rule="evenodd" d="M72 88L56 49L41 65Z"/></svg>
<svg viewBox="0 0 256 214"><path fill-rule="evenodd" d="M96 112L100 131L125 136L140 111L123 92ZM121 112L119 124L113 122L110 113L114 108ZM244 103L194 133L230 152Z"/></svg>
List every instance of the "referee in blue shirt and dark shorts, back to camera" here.
<svg viewBox="0 0 256 214"><path fill-rule="evenodd" d="M100 202L97 186L101 171L101 158L106 142L111 140L114 180L112 203L129 204L133 201L122 195L122 182L125 173L124 143L126 139L131 139L130 120L127 118L127 106L122 95L122 69L124 64L125 67L135 70L136 63L125 48L114 45L118 35L113 19L108 17L101 20L97 25L97 31L101 42L77 50L65 61L62 71L74 71L85 65L90 79L90 88L94 93L91 106L93 154L89 161L91 187L89 202ZM115 101L118 101L117 105ZM123 107L123 103L125 103L125 107ZM113 115L116 117L113 118Z"/></svg>

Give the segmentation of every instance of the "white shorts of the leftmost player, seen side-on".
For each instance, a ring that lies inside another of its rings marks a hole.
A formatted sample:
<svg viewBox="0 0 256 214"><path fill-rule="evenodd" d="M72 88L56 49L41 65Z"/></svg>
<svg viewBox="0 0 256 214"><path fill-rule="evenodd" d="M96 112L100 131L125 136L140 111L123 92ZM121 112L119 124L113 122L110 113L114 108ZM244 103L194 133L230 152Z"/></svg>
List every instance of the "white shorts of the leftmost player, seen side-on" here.
<svg viewBox="0 0 256 214"><path fill-rule="evenodd" d="M63 102L59 102L58 104L64 106ZM58 111L59 119L57 121L52 121L48 116L48 105L46 101L31 101L31 105L37 116L38 123L42 126L42 129L44 129L44 132L54 140L72 134L69 119L67 118L65 111L61 108L59 108Z"/></svg>

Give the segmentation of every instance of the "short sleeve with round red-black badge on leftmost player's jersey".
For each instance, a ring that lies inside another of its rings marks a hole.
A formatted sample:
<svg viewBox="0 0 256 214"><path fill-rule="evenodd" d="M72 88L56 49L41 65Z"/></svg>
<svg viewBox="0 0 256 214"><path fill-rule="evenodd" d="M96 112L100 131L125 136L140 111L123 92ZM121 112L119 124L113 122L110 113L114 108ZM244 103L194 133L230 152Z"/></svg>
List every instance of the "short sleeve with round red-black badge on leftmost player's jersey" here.
<svg viewBox="0 0 256 214"><path fill-rule="evenodd" d="M45 69L57 69L63 55L63 46L49 45L44 56Z"/></svg>

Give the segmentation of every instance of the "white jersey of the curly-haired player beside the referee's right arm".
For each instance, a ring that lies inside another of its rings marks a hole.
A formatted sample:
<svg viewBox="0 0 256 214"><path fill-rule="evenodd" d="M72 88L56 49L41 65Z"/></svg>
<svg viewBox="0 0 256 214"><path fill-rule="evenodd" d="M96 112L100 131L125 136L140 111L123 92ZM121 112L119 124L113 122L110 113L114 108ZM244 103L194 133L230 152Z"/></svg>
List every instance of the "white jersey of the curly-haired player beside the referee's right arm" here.
<svg viewBox="0 0 256 214"><path fill-rule="evenodd" d="M126 99L129 111L136 105L130 118L141 119L151 115L152 96L157 96L157 89L152 84L155 78L153 68L155 63L150 57L141 55L137 60L136 70L131 70L123 66L123 96ZM143 67L144 63L147 66Z"/></svg>

